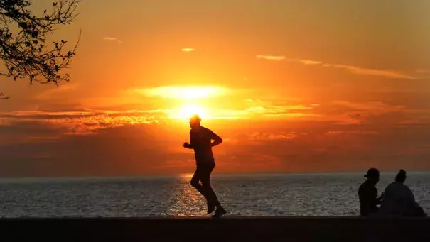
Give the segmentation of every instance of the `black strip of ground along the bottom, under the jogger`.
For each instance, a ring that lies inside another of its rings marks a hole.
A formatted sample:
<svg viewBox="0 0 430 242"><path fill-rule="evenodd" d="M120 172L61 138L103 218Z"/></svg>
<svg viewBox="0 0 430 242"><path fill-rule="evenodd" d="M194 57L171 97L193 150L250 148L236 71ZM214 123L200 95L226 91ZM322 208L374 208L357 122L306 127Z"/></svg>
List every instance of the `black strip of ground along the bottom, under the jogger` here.
<svg viewBox="0 0 430 242"><path fill-rule="evenodd" d="M430 241L429 219L0 219L0 241Z"/></svg>

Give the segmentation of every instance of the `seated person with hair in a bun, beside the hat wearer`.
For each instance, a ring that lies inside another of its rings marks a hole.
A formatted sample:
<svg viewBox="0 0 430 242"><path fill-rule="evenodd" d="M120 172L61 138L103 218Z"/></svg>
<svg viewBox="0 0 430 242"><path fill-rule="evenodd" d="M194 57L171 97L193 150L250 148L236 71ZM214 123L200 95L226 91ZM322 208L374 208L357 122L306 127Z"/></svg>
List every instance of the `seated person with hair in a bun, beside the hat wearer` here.
<svg viewBox="0 0 430 242"><path fill-rule="evenodd" d="M414 194L407 185L406 172L400 170L394 182L385 188L384 200L382 201L378 215L383 216L426 216L424 209L415 202Z"/></svg>

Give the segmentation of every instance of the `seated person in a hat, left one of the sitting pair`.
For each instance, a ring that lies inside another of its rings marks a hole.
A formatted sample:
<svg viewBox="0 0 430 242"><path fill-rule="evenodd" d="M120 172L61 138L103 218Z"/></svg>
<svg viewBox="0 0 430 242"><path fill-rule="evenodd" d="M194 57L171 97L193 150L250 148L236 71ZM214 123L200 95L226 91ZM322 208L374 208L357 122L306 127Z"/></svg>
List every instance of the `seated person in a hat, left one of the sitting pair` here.
<svg viewBox="0 0 430 242"><path fill-rule="evenodd" d="M367 180L360 185L358 189L358 198L360 199L360 215L369 216L378 211L377 205L381 203L381 197L377 198L377 182L380 181L380 171L376 168L370 168L365 175Z"/></svg>

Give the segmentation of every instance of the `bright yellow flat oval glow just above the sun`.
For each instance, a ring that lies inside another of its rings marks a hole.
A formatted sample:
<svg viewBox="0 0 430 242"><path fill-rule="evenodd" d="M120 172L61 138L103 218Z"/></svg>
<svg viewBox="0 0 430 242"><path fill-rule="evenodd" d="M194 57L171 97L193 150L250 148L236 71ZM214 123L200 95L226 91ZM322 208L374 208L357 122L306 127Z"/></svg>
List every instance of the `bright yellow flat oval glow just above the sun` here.
<svg viewBox="0 0 430 242"><path fill-rule="evenodd" d="M137 90L147 96L164 97L168 99L203 99L222 95L226 92L221 87L156 87Z"/></svg>

